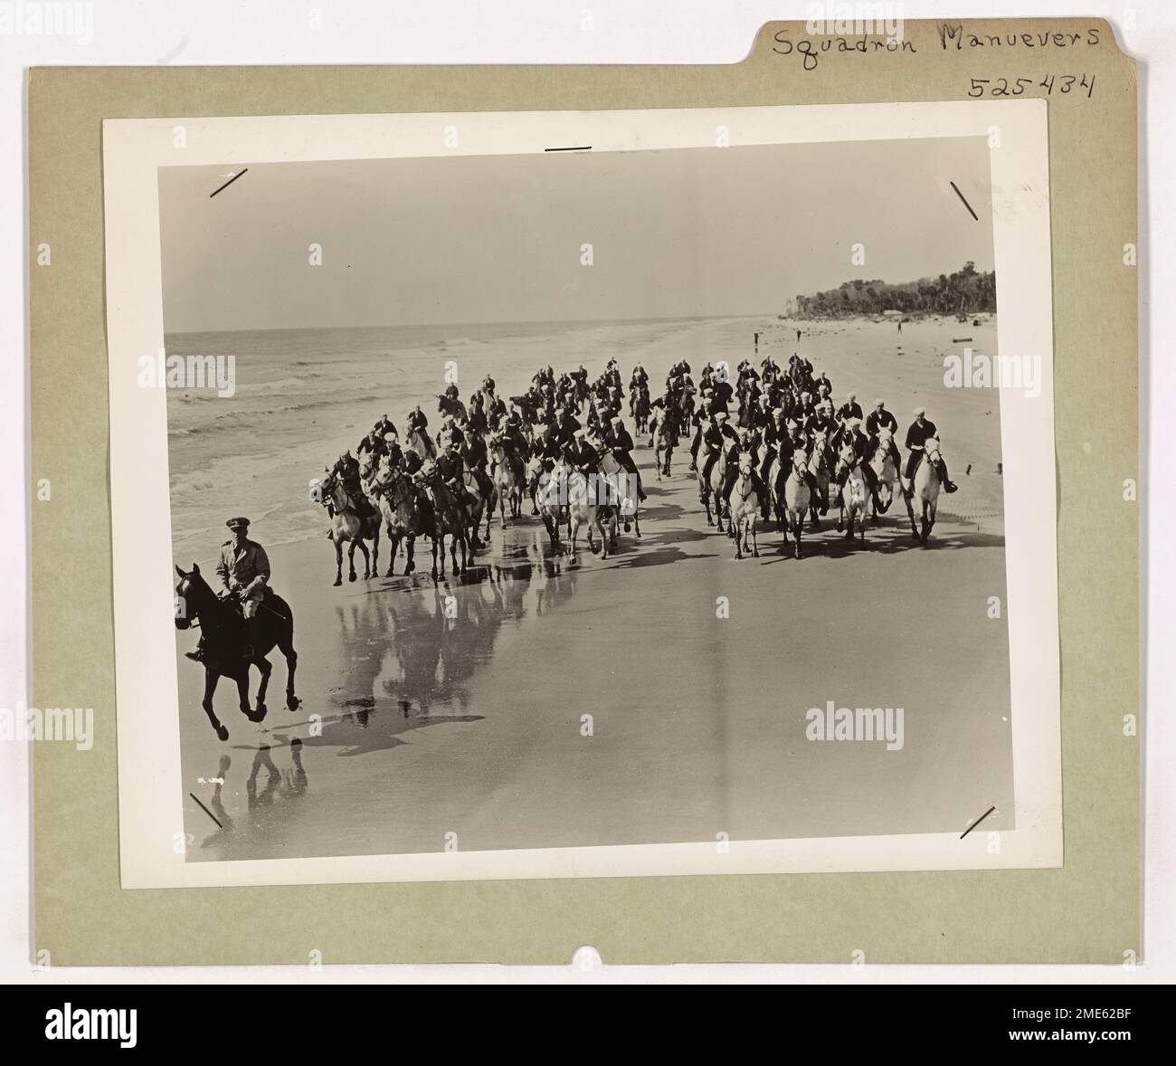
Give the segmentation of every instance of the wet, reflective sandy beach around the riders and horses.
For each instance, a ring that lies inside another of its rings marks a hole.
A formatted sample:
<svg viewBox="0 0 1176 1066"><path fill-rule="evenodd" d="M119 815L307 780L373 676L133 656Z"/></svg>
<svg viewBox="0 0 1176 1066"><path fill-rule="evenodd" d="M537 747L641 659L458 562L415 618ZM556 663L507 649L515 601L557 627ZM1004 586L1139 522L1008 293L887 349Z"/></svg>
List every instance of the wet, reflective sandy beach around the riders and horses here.
<svg viewBox="0 0 1176 1066"><path fill-rule="evenodd" d="M929 546L911 542L900 511L850 547L830 514L804 559L761 529L760 558L736 562L731 542L707 528L684 447L659 484L641 441L643 537L622 534L607 561L583 545L576 559L553 555L524 508L506 531L495 519L490 548L463 580L435 586L421 542L416 574L401 577L399 559L397 577L333 588L326 521L303 502L308 479L385 411L400 424L414 402L425 407L457 349L414 352L395 374L402 387L387 393L387 354L374 352L379 387L332 398L316 429L299 411L296 446L282 421L290 415L256 414L255 439L270 422L280 432L268 454L250 453L250 479L230 499L195 487L200 468L227 460L185 452L183 438L201 435L193 414L172 440L173 514L183 517L175 561L211 568L218 524L249 513L258 486L250 535L295 614L302 706L281 706L275 652L260 727L222 682L216 706L230 738L221 744L199 706L203 672L182 658L195 638L178 634L185 792L222 822L186 795L189 860L430 852L447 833L474 851L962 832L993 805L990 827L1010 827L1007 629L984 609L1005 584L997 393L944 388L942 364L964 347L954 339L995 353L995 322L909 322L901 335L866 320L590 324L562 340L469 333L456 359L463 394L487 371L509 395L539 365L583 362L595 377L613 357L626 381L640 361L657 384L682 358L695 374L708 359L734 367L771 354L783 365L797 328L838 402L853 391L868 409L883 397L903 431L922 404L938 424L960 492L941 498ZM426 409L432 420L435 400ZM191 469L178 462L185 454ZM716 618L719 598L729 618ZM807 739L806 713L830 700L902 707L902 748Z"/></svg>

